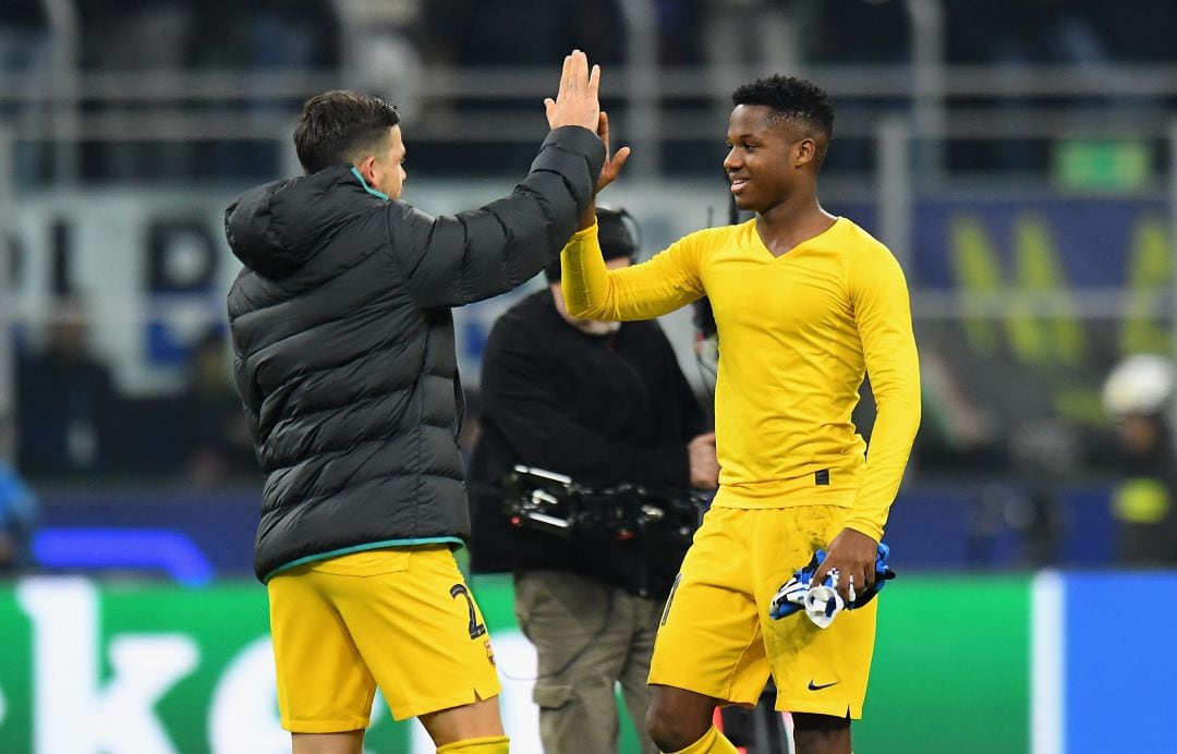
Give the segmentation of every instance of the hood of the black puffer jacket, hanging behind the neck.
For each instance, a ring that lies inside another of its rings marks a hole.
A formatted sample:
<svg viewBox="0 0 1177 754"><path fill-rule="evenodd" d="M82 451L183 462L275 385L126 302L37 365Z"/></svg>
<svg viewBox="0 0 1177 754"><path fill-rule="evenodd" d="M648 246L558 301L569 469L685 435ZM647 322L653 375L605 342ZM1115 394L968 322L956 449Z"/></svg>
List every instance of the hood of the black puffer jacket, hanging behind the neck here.
<svg viewBox="0 0 1177 754"><path fill-rule="evenodd" d="M225 238L242 265L266 278L285 278L346 220L341 208L354 199L353 192L383 201L368 193L350 165L251 188L225 209Z"/></svg>

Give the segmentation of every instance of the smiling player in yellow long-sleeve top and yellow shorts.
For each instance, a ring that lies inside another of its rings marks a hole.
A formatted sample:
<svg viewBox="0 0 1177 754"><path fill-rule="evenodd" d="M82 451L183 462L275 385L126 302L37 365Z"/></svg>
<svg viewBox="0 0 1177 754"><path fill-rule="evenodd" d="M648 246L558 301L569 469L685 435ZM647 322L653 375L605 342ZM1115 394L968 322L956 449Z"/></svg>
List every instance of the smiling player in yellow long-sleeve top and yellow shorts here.
<svg viewBox="0 0 1177 754"><path fill-rule="evenodd" d="M877 600L827 628L771 620L773 594L814 551L849 599L876 552L919 426L907 286L895 256L826 213L817 175L833 107L807 81L737 89L724 168L756 218L692 233L647 262L607 271L593 214L564 251L574 316L636 320L706 295L719 332L719 492L683 562L650 670L650 733L664 752L732 753L717 705L753 705L770 672L799 754L847 754L862 716ZM607 144L607 142L606 142ZM606 164L609 185L629 152ZM865 373L878 405L867 448L851 422Z"/></svg>

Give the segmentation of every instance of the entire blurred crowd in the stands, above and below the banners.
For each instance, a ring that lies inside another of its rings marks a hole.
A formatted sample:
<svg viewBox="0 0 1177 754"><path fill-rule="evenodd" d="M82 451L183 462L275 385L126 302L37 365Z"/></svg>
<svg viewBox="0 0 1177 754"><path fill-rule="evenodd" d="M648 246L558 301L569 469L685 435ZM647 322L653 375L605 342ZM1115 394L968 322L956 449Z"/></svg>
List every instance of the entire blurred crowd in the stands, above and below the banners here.
<svg viewBox="0 0 1177 754"><path fill-rule="evenodd" d="M54 38L47 5L41 0L0 4L0 81L19 74L12 80L32 93L48 86ZM654 13L658 61L663 66L793 71L805 66L911 62L917 41L912 36L912 14L927 7L943 11L942 52L949 65L997 65L1011 67L1003 68L1009 71L1023 64L1177 64L1177 4L1155 0L632 4L639 5ZM552 68L573 47L588 51L594 62L624 65L630 55L625 29L633 21L626 18L631 4L621 0L73 0L66 6L77 12L77 64L84 73L379 71L383 76L372 74L361 84L371 84L377 93L406 104L406 109L412 102L430 106L428 93L414 89L417 74L428 67ZM381 87L386 91L379 91ZM36 98L27 101L34 104L0 98L0 121L36 122L34 111L44 102ZM245 98L234 106L247 109L277 105L297 112L300 104L298 98L266 102L259 106ZM1033 102L1032 98L1006 98L990 105L1015 113ZM1133 102L1124 98L1118 107L1130 108ZM1079 99L1072 104L1106 105ZM179 107L195 111L207 105L194 100L180 102ZM1171 109L1177 102L1138 105ZM85 107L100 105L87 102ZM461 145L447 146L454 148L432 151L423 159L430 174L464 175L477 169L468 159L470 151L463 151ZM18 145L18 187L20 181L28 186L52 182L52 160L45 159L46 148L41 142ZM492 155L483 144L473 148L485 158L486 169L498 169L497 160L508 162L512 172L521 165L510 149ZM177 156L180 151L186 152ZM982 168L1043 159L1042 154L1009 144L985 145L949 156ZM849 148L834 159L869 164L872 155ZM680 162L705 164L705 169L714 172L711 162L685 156ZM275 160L246 141L161 144L147 152L141 144L84 144L81 167L84 178L94 181L253 181L280 171ZM27 542L36 507L29 486L36 489L145 479L202 489L260 483L231 381L222 327L210 327L191 341L181 389L144 398L118 388L111 365L93 349L91 316L80 303L62 301L44 332L38 331L35 338L18 332L14 339L19 415L14 426L0 427L0 568L25 556L21 542ZM1163 520L1165 527L1177 520L1172 513L1177 506L1165 503L1168 513L1157 513L1155 503L1158 489L1166 491L1166 500L1177 501L1177 479L1168 471L1172 466L1172 428L1164 411L1155 406L1135 412L1109 408L1088 426L1059 423L1049 415L1035 415L1036 406L1050 403L1044 396L1053 389L1050 382L1058 379L1056 374L1028 378L1018 389L1010 391L1002 381L1008 374L985 372L999 371L1002 363L978 363L975 374L953 373L950 365L959 365L960 360L940 353L931 341L922 351L922 361L929 403L915 449L913 476L1012 473L1028 491L1019 502L1022 525L1037 532L1035 541L1044 547L1057 533L1052 494L1062 479L1121 474L1128 482L1146 480L1116 493L1118 520L1144 525ZM1170 385L1166 401L1172 399L1171 389ZM863 394L869 398L867 391ZM464 438L468 445L478 433L477 394L467 403L473 408ZM1011 428L993 415L993 406L1005 406L1006 413L1026 421ZM864 405L856 420L869 433L871 407ZM14 436L19 442L13 442ZM984 506L979 509L984 515ZM977 526L984 529L989 525L980 521ZM1169 532L1163 531L1165 536L1170 536ZM1131 539L1131 533L1126 536ZM1129 552L1133 548L1151 552L1155 542L1142 536L1123 545L1128 553L1124 562L1135 562ZM1172 541L1171 536L1168 541ZM1177 559L1177 552L1165 556ZM1050 562L1051 553L1032 554L1030 560Z"/></svg>

